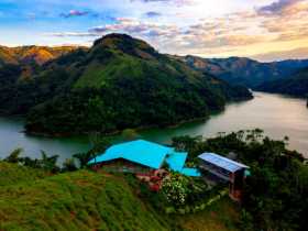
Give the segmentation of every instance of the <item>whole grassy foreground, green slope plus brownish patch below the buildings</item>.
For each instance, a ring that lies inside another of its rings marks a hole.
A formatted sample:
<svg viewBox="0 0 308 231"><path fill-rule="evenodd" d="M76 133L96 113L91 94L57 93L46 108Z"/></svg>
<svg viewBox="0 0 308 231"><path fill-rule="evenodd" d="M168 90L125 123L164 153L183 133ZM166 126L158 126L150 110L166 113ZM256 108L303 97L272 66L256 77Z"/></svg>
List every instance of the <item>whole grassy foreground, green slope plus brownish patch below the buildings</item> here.
<svg viewBox="0 0 308 231"><path fill-rule="evenodd" d="M227 199L170 218L135 191L121 176L89 170L48 176L0 162L0 230L234 230L238 211Z"/></svg>

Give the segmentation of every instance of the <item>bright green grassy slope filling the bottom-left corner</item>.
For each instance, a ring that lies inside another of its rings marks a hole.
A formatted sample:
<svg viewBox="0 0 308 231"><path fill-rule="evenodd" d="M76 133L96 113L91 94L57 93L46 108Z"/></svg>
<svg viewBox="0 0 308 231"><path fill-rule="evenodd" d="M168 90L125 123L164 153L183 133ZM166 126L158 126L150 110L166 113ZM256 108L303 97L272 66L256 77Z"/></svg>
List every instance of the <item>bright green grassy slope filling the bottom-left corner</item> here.
<svg viewBox="0 0 308 231"><path fill-rule="evenodd" d="M0 230L6 231L170 230L122 178L88 170L24 177L1 186L0 198Z"/></svg>

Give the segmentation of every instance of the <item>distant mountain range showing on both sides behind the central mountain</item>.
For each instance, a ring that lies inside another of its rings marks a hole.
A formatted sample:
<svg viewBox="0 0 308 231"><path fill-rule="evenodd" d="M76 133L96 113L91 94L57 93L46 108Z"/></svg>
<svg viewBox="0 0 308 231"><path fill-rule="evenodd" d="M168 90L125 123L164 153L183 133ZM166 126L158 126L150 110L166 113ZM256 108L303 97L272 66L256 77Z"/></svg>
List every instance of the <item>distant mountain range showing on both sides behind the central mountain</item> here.
<svg viewBox="0 0 308 231"><path fill-rule="evenodd" d="M8 64L19 65L23 77L33 76L37 65L56 59L76 50L78 46L0 46L0 67ZM231 85L243 85L249 88L287 78L299 69L308 67L308 59L288 59L261 63L246 57L202 58L198 56L169 56L187 63L191 68L219 77ZM258 88L261 89L261 88Z"/></svg>

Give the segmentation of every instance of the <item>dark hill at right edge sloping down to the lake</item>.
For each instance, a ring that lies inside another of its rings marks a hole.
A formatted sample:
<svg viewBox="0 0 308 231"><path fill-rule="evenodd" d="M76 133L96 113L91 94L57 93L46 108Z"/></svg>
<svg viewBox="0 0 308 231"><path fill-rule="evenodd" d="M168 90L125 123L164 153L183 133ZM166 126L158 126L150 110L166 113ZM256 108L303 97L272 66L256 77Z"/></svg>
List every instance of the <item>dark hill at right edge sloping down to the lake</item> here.
<svg viewBox="0 0 308 231"><path fill-rule="evenodd" d="M288 78L265 82L257 90L308 97L308 68L304 68Z"/></svg>

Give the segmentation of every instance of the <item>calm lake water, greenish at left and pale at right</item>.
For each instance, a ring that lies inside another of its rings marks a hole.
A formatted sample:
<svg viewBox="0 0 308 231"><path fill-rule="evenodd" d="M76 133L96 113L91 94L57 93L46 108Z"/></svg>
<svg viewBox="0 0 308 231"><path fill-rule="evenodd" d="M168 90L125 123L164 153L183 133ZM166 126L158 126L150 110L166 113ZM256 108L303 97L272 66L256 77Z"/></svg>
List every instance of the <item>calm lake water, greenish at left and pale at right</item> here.
<svg viewBox="0 0 308 231"><path fill-rule="evenodd" d="M177 128L148 129L140 132L143 139L168 143L176 135L213 136L218 132L260 128L274 139L289 136L289 148L308 157L308 109L306 100L254 92L250 101L231 103L221 113L207 121L186 123ZM89 139L79 138L37 138L22 133L23 120L0 118L0 158L16 147L23 147L25 155L40 157L40 151L58 154L59 161L75 153L90 148Z"/></svg>

